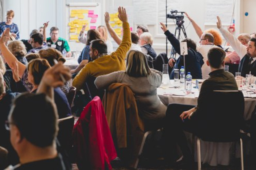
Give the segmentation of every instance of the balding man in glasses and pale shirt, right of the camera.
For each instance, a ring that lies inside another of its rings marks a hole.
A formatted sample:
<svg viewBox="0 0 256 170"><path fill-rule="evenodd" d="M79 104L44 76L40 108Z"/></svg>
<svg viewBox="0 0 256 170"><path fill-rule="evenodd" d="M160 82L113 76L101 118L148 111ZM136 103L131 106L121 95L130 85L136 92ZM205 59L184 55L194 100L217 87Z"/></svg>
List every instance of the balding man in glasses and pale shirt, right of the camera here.
<svg viewBox="0 0 256 170"><path fill-rule="evenodd" d="M202 77L203 79L207 79L209 77L209 73L211 72L210 68L207 66L207 54L208 51L213 48L217 47L213 44L214 37L211 33L203 33L200 37L200 45L197 46L197 51L201 53L203 56L204 64L202 65Z"/></svg>

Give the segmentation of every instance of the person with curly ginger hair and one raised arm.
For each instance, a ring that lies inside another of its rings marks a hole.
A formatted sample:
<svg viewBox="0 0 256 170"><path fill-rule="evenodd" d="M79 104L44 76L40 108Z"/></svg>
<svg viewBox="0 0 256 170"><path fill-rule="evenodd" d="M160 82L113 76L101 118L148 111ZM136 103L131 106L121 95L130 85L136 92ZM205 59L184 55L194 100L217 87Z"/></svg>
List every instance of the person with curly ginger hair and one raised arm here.
<svg viewBox="0 0 256 170"><path fill-rule="evenodd" d="M213 44L223 49L223 47L221 46L222 37L220 36L220 33L217 30L211 28L203 32L201 28L197 25L197 23L186 12L185 12L185 15L187 16L187 19L189 19L190 22L192 23L192 26L194 27L194 30L196 31L199 38L201 38L203 33L211 33L211 35L213 35L214 37Z"/></svg>

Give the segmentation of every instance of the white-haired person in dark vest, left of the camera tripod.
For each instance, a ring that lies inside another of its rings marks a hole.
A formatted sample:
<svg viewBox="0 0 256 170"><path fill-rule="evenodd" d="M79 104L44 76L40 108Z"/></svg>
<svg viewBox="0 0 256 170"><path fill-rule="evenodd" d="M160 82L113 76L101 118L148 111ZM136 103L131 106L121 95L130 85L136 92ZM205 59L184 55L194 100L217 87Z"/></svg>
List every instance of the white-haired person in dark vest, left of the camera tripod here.
<svg viewBox="0 0 256 170"><path fill-rule="evenodd" d="M150 33L142 33L140 35L140 47L144 54L148 54L152 58L156 58L156 51L152 48L153 38Z"/></svg>

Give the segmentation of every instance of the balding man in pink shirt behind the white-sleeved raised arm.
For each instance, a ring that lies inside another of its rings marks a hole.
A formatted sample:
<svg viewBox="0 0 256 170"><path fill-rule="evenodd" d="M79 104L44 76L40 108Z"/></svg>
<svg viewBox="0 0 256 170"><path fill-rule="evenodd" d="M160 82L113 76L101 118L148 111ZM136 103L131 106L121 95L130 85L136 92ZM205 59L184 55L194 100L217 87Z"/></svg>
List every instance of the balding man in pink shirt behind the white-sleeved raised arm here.
<svg viewBox="0 0 256 170"><path fill-rule="evenodd" d="M251 39L251 36L246 33L240 34L237 37L237 40L239 40L239 42L241 42L241 44L243 44L245 47L248 46L248 42L250 41L250 39ZM225 63L239 64L239 62L240 62L240 57L235 51L232 51L230 54L228 54L225 57Z"/></svg>

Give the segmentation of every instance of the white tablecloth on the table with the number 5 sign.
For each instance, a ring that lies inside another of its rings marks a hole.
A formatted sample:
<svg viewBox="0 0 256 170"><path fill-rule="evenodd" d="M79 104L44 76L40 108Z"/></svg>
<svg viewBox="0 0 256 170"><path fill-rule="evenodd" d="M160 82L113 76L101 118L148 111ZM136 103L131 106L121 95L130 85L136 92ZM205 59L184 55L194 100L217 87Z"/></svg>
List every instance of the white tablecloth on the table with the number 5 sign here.
<svg viewBox="0 0 256 170"><path fill-rule="evenodd" d="M184 88L184 87L183 87ZM174 88L173 81L171 80L171 85L168 87L160 87L157 89L157 94L164 105L168 106L170 103L179 103L186 105L197 105L197 97L199 91L195 88L195 83L192 83L192 93L182 96L183 88ZM245 108L244 108L244 119L249 120L251 118L251 113L256 105L256 98L244 98ZM227 102L228 103L228 102ZM230 105L232 107L232 105ZM188 142L192 140L192 134L186 133ZM195 137L195 161L197 161L197 146ZM190 146L189 145L189 146ZM239 144L238 144L239 145ZM232 142L226 143L214 143L214 142L204 142L201 141L201 161L202 163L208 163L209 165L229 165L230 162L230 152L232 150ZM236 156L239 157L239 147L236 151ZM245 152L245 151L244 151Z"/></svg>

